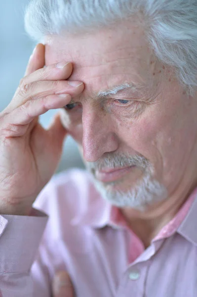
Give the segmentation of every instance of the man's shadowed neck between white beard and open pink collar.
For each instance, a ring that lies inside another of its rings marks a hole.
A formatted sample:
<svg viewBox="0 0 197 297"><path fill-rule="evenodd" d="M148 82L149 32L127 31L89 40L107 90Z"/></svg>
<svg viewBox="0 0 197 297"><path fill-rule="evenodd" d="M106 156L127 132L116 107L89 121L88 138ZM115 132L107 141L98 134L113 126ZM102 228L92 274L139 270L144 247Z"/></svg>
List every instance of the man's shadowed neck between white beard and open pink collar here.
<svg viewBox="0 0 197 297"><path fill-rule="evenodd" d="M197 183L194 183L187 188L176 190L167 199L148 206L143 212L129 207L121 208L120 211L128 227L139 237L146 248L150 246L159 231L175 217L196 187Z"/></svg>

